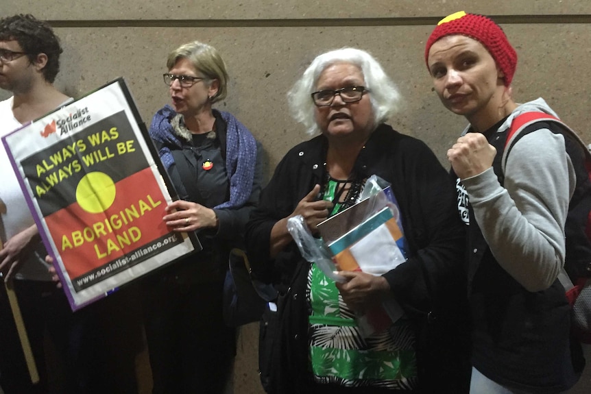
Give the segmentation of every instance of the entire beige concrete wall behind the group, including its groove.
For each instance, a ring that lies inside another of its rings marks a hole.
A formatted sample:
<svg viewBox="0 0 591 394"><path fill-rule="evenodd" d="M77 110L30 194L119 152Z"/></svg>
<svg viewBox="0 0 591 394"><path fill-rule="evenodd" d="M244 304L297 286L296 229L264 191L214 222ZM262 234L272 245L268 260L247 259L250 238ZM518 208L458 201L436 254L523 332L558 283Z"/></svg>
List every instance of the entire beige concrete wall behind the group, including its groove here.
<svg viewBox="0 0 591 394"><path fill-rule="evenodd" d="M317 54L344 46L370 51L383 64L405 97L405 107L391 119L391 125L422 138L448 167L446 149L466 122L439 103L431 90L423 53L435 23L457 10L495 16L505 29L519 56L513 82L517 101L544 97L591 142L591 2L586 0L0 3L0 15L30 12L55 27L64 47L56 82L60 88L77 97L123 76L146 123L168 102L161 77L167 71L167 53L190 40L215 46L232 78L228 98L219 108L236 115L261 140L267 175L289 147L306 138L302 127L289 117L285 93ZM0 92L0 99L5 97L8 94ZM249 325L239 341L236 393L262 392L256 376L255 342L256 327ZM140 391L147 393L145 352L137 360ZM572 393L588 389L589 374Z"/></svg>

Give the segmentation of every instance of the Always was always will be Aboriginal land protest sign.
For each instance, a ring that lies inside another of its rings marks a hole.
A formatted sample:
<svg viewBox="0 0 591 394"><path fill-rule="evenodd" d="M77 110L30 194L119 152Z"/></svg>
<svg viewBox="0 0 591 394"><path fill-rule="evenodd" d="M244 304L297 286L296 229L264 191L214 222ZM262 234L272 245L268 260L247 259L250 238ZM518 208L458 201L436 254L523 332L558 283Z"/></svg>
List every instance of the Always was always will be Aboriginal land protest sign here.
<svg viewBox="0 0 591 394"><path fill-rule="evenodd" d="M123 79L2 142L73 310L201 249L162 221L176 192Z"/></svg>

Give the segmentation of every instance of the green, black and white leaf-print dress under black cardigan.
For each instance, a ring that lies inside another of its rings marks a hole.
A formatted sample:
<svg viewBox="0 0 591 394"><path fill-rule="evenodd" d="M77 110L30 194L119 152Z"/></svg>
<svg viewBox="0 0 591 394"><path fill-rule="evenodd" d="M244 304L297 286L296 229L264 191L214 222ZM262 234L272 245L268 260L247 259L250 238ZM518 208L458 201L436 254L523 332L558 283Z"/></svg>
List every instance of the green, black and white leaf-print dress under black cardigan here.
<svg viewBox="0 0 591 394"><path fill-rule="evenodd" d="M324 199L342 201L338 195L342 183L329 178ZM345 201L357 197L349 196L351 190L354 193L353 186ZM345 205L350 204L335 204L332 214L346 208ZM354 312L343 302L335 282L316 264L312 264L308 273L306 296L311 309L311 370L316 382L393 390L415 388L415 336L405 317L381 332L363 336Z"/></svg>

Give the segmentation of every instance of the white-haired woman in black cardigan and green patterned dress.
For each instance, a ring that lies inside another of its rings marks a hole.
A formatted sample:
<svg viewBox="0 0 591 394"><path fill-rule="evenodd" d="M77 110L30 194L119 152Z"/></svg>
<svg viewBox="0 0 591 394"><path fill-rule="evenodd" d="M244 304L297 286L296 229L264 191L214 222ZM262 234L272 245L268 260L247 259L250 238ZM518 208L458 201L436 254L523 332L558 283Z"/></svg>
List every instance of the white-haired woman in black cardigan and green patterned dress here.
<svg viewBox="0 0 591 394"><path fill-rule="evenodd" d="M261 360L267 391L466 391L466 336L446 330L466 305L453 184L424 143L384 123L397 109L396 86L369 53L345 48L315 58L287 99L295 119L320 135L282 159L247 224L256 270L280 291L271 362ZM320 221L354 203L370 175L391 183L408 260L381 276L342 271L347 282L335 286L302 259L287 219L301 214L317 233ZM364 338L355 312L389 295L406 317Z"/></svg>

